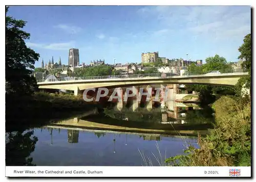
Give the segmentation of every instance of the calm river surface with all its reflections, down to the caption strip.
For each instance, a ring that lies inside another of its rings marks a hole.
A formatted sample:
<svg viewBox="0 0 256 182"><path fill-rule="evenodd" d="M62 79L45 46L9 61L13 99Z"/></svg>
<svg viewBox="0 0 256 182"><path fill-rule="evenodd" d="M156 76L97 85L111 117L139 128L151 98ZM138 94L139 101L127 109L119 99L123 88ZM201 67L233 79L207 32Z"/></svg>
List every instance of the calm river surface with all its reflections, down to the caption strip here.
<svg viewBox="0 0 256 182"><path fill-rule="evenodd" d="M155 104L150 109L114 106L96 115L92 113L28 130L33 131L30 134L14 132L9 143L7 134L8 164L145 166L151 161L159 166L155 156L164 161L166 157L182 154L189 144L198 147L195 137L164 135L159 129L188 124L193 127L193 123L212 119L211 113L198 106L174 102ZM144 162L141 155L150 159Z"/></svg>

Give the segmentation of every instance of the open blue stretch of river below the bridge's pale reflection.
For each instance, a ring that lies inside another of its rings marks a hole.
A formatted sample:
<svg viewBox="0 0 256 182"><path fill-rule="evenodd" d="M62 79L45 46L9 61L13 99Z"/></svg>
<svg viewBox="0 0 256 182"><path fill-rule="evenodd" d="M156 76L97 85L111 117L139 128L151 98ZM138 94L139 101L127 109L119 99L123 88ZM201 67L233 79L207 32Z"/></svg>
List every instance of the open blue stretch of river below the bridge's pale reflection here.
<svg viewBox="0 0 256 182"><path fill-rule="evenodd" d="M65 129L60 126L34 130L38 142L30 157L37 166L141 166L144 164L138 149L158 166L154 160L154 155L160 157L156 142L166 156L181 154L185 149L184 140L197 147L197 138L162 134ZM51 131L53 145L49 136Z"/></svg>

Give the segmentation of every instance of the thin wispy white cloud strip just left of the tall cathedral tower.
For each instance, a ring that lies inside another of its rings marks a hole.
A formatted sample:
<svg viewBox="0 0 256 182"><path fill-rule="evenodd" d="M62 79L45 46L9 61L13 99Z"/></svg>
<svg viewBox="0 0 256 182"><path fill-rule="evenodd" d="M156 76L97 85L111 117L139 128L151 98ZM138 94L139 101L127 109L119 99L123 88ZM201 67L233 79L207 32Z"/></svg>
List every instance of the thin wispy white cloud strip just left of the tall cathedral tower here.
<svg viewBox="0 0 256 182"><path fill-rule="evenodd" d="M48 50L69 50L73 47L74 41L65 42L65 43L50 43L50 44L42 44L42 43L33 43L33 42L26 42L28 47L34 48L41 48L41 49L48 49Z"/></svg>

